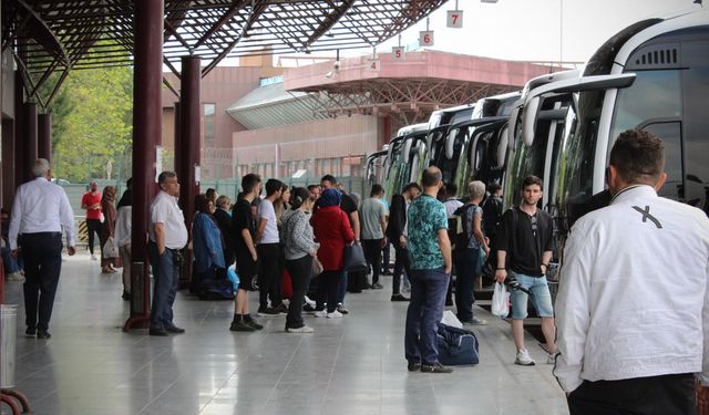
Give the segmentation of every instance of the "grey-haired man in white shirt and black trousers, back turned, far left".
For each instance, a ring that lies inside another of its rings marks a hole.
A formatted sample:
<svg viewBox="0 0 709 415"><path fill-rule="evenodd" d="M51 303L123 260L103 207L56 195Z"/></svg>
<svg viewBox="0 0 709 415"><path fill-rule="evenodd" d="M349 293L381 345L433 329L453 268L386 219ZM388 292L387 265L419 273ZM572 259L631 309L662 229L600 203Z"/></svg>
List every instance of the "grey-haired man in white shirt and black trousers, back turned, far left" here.
<svg viewBox="0 0 709 415"><path fill-rule="evenodd" d="M14 195L8 236L11 255L17 258L21 253L24 261L24 334L49 339L49 320L62 268L62 228L70 256L76 252L76 232L66 193L50 181L49 162L34 160L32 176L34 180L20 186Z"/></svg>

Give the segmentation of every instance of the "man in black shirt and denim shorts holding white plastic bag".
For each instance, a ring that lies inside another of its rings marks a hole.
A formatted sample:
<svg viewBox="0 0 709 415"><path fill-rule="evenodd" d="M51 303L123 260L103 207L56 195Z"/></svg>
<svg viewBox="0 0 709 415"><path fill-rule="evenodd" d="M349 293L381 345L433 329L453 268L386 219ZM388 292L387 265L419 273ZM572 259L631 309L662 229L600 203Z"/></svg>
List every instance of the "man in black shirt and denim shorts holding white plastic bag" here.
<svg viewBox="0 0 709 415"><path fill-rule="evenodd" d="M542 318L542 332L549 352L546 363L553 364L556 353L554 344L554 310L546 283L546 270L552 260L552 217L537 203L542 199L543 184L536 176L522 180L522 203L502 216L497 235L497 269L495 279L503 283L507 277L516 279L522 288L532 293L532 303ZM524 319L527 317L527 294L512 290L512 336L517 350L515 364L534 365L534 360L524 346Z"/></svg>

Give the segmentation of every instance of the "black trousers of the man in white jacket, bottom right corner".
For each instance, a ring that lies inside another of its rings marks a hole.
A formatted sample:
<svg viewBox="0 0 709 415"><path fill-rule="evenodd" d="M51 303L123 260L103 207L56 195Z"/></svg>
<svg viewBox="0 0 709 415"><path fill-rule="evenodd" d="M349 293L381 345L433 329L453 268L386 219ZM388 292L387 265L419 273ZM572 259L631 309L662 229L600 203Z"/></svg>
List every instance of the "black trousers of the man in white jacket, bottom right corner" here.
<svg viewBox="0 0 709 415"><path fill-rule="evenodd" d="M567 397L571 415L693 415L690 373L584 383Z"/></svg>

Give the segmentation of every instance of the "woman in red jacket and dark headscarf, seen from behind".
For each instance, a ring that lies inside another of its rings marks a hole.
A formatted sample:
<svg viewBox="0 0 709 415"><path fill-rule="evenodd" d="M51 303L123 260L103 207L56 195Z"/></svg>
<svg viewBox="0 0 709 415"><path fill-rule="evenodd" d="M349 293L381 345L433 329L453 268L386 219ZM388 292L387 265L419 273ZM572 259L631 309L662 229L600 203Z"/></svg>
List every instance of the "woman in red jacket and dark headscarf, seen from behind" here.
<svg viewBox="0 0 709 415"><path fill-rule="evenodd" d="M320 243L318 259L325 270L318 281L316 317L328 319L341 318L337 311L337 298L339 286L345 278L345 246L352 243L354 232L350 226L347 214L340 209L342 194L340 190L329 188L322 191L318 199L319 209L312 215L312 231L315 239ZM327 302L327 311L323 303Z"/></svg>

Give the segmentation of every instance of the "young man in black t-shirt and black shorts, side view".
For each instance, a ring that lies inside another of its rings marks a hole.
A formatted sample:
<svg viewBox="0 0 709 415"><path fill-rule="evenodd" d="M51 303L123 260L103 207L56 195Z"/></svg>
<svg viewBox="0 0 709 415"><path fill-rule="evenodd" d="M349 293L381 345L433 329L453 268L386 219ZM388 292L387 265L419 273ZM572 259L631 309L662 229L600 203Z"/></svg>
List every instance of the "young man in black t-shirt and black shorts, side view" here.
<svg viewBox="0 0 709 415"><path fill-rule="evenodd" d="M251 212L251 203L261 193L261 178L249 173L242 177L242 193L232 209L234 229L234 253L239 274L239 289L234 299L234 320L230 331L255 331L264 326L258 324L248 312L248 292L256 291L258 276L256 253L256 225Z"/></svg>

